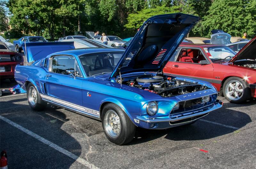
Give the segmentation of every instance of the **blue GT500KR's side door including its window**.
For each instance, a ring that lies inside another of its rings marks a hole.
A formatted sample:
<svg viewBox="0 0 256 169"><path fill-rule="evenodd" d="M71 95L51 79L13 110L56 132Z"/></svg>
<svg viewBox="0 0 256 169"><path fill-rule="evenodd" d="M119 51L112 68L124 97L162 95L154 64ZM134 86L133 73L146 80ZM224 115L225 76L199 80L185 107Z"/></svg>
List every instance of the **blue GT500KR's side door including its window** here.
<svg viewBox="0 0 256 169"><path fill-rule="evenodd" d="M47 95L66 106L82 106L81 86L84 78L74 56L52 56L45 77Z"/></svg>

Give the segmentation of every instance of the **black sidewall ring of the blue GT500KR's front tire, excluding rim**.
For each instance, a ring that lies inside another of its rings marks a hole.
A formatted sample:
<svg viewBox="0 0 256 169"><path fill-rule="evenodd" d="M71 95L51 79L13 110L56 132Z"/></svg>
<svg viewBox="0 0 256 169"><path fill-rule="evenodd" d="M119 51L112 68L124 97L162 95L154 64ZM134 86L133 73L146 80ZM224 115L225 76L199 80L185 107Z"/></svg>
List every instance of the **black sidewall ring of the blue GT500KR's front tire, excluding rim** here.
<svg viewBox="0 0 256 169"><path fill-rule="evenodd" d="M121 129L120 129L119 135L116 137L112 137L111 135L109 135L108 131L106 130L106 127L105 127L105 115L108 110L115 111L120 119ZM126 121L125 121L125 117L124 117L124 111L116 104L107 104L106 106L104 106L104 108L102 110L102 127L103 127L106 137L108 138L108 140L110 142L113 142L117 145L121 145L126 139L126 132L127 132L126 131L127 125L126 125Z"/></svg>

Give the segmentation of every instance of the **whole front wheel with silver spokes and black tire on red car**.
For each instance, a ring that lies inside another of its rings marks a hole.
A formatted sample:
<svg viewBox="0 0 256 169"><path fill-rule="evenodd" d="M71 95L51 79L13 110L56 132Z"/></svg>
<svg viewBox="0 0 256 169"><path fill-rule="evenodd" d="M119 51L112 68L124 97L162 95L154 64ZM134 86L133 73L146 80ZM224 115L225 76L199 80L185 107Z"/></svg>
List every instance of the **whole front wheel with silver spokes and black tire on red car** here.
<svg viewBox="0 0 256 169"><path fill-rule="evenodd" d="M229 85L230 84L236 85L236 82L239 82L240 85L238 86L238 88L235 88L235 86L233 86L234 88L233 88L233 90L231 90L231 87L229 87ZM243 93L238 92L241 89L243 89ZM231 93L233 92L233 94L230 96L228 94L228 91ZM249 84L246 81L244 81L242 78L239 78L239 77L228 78L223 84L222 92L223 92L224 97L230 103L240 104L240 103L245 102L246 100L251 99L251 97L252 97ZM238 95L239 97L236 97L235 94Z"/></svg>

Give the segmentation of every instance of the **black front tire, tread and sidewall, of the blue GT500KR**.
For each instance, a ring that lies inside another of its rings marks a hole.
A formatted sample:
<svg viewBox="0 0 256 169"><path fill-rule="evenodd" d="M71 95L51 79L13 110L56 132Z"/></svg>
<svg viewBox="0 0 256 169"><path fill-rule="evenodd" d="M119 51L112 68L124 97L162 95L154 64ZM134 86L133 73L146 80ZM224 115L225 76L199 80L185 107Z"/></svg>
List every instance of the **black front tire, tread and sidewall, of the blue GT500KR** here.
<svg viewBox="0 0 256 169"><path fill-rule="evenodd" d="M117 136L115 137L109 134L110 129L109 130L106 129L107 128L106 123L108 123L106 118L107 118L107 114L109 114L108 113L109 111L115 112L118 115L120 120L120 130ZM102 127L104 129L106 137L110 142L113 142L117 145L123 145L132 141L135 135L136 126L132 123L131 119L119 106L117 106L116 104L109 103L109 104L106 104L102 110Z"/></svg>

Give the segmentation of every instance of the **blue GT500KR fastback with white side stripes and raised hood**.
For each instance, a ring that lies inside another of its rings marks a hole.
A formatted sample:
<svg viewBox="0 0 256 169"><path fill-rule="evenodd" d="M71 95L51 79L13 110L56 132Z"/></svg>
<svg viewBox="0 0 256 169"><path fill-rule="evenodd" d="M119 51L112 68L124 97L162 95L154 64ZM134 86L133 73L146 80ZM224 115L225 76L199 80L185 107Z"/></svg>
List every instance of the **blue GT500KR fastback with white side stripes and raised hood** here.
<svg viewBox="0 0 256 169"><path fill-rule="evenodd" d="M51 103L99 119L106 137L118 145L132 141L136 126L191 124L222 106L216 89L162 70L198 20L181 13L151 17L125 51L28 44L27 57L40 59L17 66L15 79L27 90L32 109Z"/></svg>

